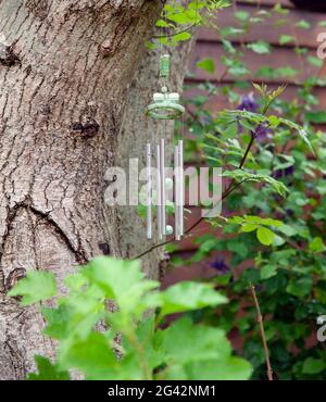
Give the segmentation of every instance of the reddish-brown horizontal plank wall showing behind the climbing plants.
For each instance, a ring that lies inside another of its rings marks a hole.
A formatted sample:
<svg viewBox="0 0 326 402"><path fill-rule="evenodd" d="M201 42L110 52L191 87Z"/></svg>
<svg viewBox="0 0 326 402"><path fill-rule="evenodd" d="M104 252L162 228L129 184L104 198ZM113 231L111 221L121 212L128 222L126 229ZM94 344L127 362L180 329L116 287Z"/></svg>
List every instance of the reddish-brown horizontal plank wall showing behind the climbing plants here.
<svg viewBox="0 0 326 402"><path fill-rule="evenodd" d="M280 2L285 8L288 8L290 10L289 14L285 16L288 23L286 25L275 28L273 20L271 18L268 20L267 24L255 25L250 30L248 37L243 38L244 42L252 42L255 40L268 41L269 43L273 45L272 53L269 55L265 54L259 55L248 50L244 51L246 54L244 62L249 66L251 72L256 71L261 65L269 65L275 68L288 65L293 68L300 70L300 74L298 74L298 76L290 77L288 79L284 78L283 79L274 78L269 80L264 79L269 87L275 88L281 84L287 83L287 89L285 91L284 97L285 99L292 99L294 97L296 90L298 89L298 86L300 86L302 80L308 78L312 74L315 75L318 68L308 63L304 63L302 65L300 58L297 56L293 52L294 46L293 45L280 46L278 39L280 35L293 36L296 23L301 20L305 20L310 22L311 28L309 30L297 28L296 36L298 38L299 43L309 49L309 53L311 55L316 55L316 47L318 46L316 37L318 33L326 32L326 28L322 28L321 26L318 26L318 23L322 21L326 21L326 14L297 10L287 0L235 1L231 8L228 8L218 13L218 15L216 16L216 23L217 26L220 27L237 26L237 21L234 17L235 9L253 13L256 11L258 3L261 3L263 9L271 11L271 8L273 8L277 2ZM237 47L239 46L239 43L234 42L234 46ZM225 83L231 81L233 77L229 76L228 74L225 74L225 67L220 62L220 56L222 53L223 47L218 33L216 30L212 30L209 28L200 29L197 45L192 51L189 61L189 71L191 72L193 77L188 78L186 80L186 84L193 81L201 83L205 81L206 79L213 80L217 85L218 84L223 85ZM196 66L196 63L204 58L211 58L215 61L216 70L213 76L206 74L205 72ZM325 71L324 70L325 68L322 68L322 71L319 71L321 75L326 75L326 70ZM253 76L250 75L248 75L246 78L248 79L248 81L253 80ZM191 97L191 95L192 91L188 91L185 93L186 97ZM319 99L318 108L321 110L325 110L326 89L323 87L316 87L315 95ZM209 103L209 108L214 111L222 110L226 106L227 104L225 103L225 99L223 99L222 97L211 99ZM190 226L191 223L193 223L198 218L199 213L200 213L199 210L192 209L192 214L190 218L187 221L186 226ZM193 244L192 242L193 238L205 234L208 230L212 229L206 223L199 225L195 229L193 236L188 237L180 242L179 251L177 251L175 255L180 256L185 260L189 259L197 249L196 244ZM218 236L218 233L216 233L216 236ZM210 260L213 259L214 255L212 255L212 257L209 259L208 261L202 261L200 263L192 264L191 266L180 266L174 268L174 271L167 271L164 286L168 286L180 279L190 279L193 277L208 277L210 275L214 275L214 271L209 266Z"/></svg>

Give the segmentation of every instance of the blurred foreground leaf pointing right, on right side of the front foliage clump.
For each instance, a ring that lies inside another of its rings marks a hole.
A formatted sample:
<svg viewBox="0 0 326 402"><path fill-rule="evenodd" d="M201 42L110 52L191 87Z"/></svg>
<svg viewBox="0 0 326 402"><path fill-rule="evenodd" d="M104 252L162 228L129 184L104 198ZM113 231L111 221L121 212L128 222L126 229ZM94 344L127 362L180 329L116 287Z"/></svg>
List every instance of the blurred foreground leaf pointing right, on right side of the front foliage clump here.
<svg viewBox="0 0 326 402"><path fill-rule="evenodd" d="M213 287L213 284L183 281L167 288L162 293L163 305L161 315L181 313L226 303L227 299Z"/></svg>

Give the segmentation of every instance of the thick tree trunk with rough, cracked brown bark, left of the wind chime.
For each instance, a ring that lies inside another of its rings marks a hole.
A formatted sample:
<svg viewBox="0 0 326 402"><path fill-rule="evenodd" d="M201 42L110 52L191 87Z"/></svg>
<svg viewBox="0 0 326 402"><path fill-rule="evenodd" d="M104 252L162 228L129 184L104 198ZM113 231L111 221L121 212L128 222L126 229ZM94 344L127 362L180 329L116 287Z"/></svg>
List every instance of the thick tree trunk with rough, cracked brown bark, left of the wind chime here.
<svg viewBox="0 0 326 402"><path fill-rule="evenodd" d="M121 255L105 206L126 90L160 14L149 0L0 0L0 378L53 354L36 309L5 296L26 269L59 280Z"/></svg>

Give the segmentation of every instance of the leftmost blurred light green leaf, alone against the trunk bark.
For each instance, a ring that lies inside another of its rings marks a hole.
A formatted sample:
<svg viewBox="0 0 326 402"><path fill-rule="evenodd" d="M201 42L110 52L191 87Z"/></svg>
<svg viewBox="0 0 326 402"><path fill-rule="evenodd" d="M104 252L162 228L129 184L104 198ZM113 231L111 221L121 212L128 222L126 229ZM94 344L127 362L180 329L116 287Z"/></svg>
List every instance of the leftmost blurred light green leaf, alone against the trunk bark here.
<svg viewBox="0 0 326 402"><path fill-rule="evenodd" d="M9 296L22 296L22 305L33 304L51 299L57 293L55 279L52 273L46 271L29 271L26 278L21 279Z"/></svg>

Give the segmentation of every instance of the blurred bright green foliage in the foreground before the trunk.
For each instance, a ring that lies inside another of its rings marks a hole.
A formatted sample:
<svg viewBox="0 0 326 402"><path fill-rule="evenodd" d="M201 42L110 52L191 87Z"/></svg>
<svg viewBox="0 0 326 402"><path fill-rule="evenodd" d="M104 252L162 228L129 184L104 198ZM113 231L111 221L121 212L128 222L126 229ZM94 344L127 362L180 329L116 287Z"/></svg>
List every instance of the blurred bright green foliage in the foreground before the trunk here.
<svg viewBox="0 0 326 402"><path fill-rule="evenodd" d="M46 278L46 279L45 279ZM24 305L53 296L53 277L34 272L11 294ZM30 294L40 291L41 298ZM50 284L50 285L49 285ZM65 278L68 293L55 307L41 307L45 335L58 340L52 364L36 356L28 379L68 379L75 369L86 379L247 379L251 366L233 355L225 331L190 316L162 329L165 317L216 307L227 298L213 284L180 282L165 291L145 278L139 261L97 257ZM47 289L47 290L46 290ZM156 311L156 313L155 313Z"/></svg>

